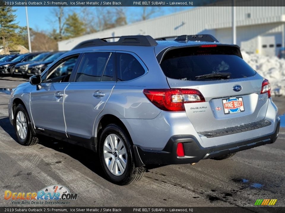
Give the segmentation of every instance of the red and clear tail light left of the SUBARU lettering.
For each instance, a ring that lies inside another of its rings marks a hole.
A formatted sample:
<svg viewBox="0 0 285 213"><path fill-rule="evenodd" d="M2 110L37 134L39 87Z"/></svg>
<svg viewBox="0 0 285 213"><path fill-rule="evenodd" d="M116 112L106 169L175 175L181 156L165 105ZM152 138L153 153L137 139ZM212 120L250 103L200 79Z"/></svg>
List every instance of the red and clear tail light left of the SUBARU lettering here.
<svg viewBox="0 0 285 213"><path fill-rule="evenodd" d="M145 96L164 111L185 111L184 103L205 102L195 89L144 89Z"/></svg>

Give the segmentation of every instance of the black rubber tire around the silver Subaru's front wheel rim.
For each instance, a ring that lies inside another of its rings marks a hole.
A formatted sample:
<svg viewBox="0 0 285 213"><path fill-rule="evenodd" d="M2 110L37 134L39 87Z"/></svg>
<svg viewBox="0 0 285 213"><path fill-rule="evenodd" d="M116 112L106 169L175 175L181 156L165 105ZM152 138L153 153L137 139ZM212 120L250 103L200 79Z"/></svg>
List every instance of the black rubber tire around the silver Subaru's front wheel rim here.
<svg viewBox="0 0 285 213"><path fill-rule="evenodd" d="M27 133L26 133L26 137L25 138L21 138L19 133L18 133L18 130L17 130L17 114L18 112L23 112L25 118L26 118L26 128L27 128ZM28 113L26 112L26 108L22 105L22 104L19 104L18 106L16 106L16 109L15 109L15 112L14 112L14 129L15 129L15 134L16 134L16 137L18 139L18 143L20 143L21 145L23 146L31 146L31 145L35 145L37 143L39 143L39 138L37 138L36 136L34 136L32 134L32 131L31 131L31 128L30 128L30 120L29 120L29 115Z"/></svg>

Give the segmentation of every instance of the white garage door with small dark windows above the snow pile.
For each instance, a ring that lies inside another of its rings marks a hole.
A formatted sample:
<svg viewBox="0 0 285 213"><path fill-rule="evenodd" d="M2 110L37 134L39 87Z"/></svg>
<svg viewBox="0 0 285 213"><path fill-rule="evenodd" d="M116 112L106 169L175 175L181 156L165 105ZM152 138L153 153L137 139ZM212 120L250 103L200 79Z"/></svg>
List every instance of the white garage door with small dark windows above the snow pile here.
<svg viewBox="0 0 285 213"><path fill-rule="evenodd" d="M282 46L282 33L267 34L260 37L260 53L267 56L277 56Z"/></svg>

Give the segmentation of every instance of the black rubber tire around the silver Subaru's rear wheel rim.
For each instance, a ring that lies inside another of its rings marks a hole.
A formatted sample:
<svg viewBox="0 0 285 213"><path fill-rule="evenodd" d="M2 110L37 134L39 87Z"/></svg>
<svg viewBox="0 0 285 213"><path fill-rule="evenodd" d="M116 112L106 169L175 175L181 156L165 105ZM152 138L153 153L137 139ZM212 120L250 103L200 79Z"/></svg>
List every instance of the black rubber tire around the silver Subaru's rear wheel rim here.
<svg viewBox="0 0 285 213"><path fill-rule="evenodd" d="M104 143L108 135L115 134L121 138L124 147L126 149L127 154L127 161L126 161L126 167L124 172L116 176L107 167L107 164L105 163L104 159ZM145 172L145 167L135 167L134 164L134 152L132 149L132 143L126 132L123 128L116 124L109 124L107 125L104 130L102 131L101 137L100 137L100 143L99 143L99 158L101 165L103 167L103 170L107 176L107 178L118 185L128 185L131 183L135 183L139 181Z"/></svg>

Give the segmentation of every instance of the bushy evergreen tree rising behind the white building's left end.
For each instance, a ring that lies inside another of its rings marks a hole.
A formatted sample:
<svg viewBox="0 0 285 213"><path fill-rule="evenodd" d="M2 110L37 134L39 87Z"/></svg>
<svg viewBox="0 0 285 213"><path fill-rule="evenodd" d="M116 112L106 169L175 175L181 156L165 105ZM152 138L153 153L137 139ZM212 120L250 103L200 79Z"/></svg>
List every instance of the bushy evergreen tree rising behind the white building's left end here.
<svg viewBox="0 0 285 213"><path fill-rule="evenodd" d="M85 33L85 24L78 17L76 12L68 14L65 20L64 35L66 38L74 38Z"/></svg>

